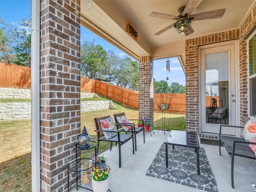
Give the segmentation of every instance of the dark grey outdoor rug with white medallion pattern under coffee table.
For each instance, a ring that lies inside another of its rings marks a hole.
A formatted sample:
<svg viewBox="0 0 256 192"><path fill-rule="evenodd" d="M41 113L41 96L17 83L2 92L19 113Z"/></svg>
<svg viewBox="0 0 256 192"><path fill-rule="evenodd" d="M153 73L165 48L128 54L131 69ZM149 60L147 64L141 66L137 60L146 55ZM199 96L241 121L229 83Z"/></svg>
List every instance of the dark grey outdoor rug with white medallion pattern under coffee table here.
<svg viewBox="0 0 256 192"><path fill-rule="evenodd" d="M197 161L194 148L168 145L168 168L165 164L165 145L161 145L152 161L147 176L168 180L178 184L210 192L218 192L214 175L205 154L199 150L200 175L197 174Z"/></svg>

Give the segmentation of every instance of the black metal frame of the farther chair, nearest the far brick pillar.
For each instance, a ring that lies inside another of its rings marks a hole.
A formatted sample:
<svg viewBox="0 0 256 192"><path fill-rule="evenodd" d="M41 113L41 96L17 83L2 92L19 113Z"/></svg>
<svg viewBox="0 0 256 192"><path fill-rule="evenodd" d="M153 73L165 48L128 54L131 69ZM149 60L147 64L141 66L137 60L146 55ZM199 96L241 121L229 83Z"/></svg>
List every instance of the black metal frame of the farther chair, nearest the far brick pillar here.
<svg viewBox="0 0 256 192"><path fill-rule="evenodd" d="M123 124L123 125L126 125L126 126L127 126L127 125L131 125L131 126L132 126L133 131L132 131L132 129L130 129L130 130L126 131L126 133L129 133L129 132L133 132L133 133L134 133L135 151L137 151L136 134L138 134L138 133L140 133L140 132L143 131L143 142L145 143L144 120L142 120L142 119L128 119L129 121L130 121L130 120L131 120L131 121L132 121L132 120L136 120L136 121L141 120L141 121L142 121L142 127L136 127L134 123L131 123L131 124L129 124L129 123L119 123L118 120L117 120L117 117L121 117L121 116L124 116L124 115L125 115L124 112L118 113L118 114L114 114L114 119L115 119L116 125L118 125L119 127L122 126L122 124ZM122 128L122 127L120 127L120 128ZM122 129L124 130L124 128L122 128ZM125 130L124 130L124 131L125 131Z"/></svg>

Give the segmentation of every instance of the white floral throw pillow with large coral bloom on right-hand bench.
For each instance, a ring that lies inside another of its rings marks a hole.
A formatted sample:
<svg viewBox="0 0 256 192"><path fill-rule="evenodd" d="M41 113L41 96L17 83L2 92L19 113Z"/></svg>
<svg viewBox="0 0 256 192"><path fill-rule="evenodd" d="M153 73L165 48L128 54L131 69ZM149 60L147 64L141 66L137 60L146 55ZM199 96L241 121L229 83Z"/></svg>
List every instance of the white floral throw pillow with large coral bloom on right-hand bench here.
<svg viewBox="0 0 256 192"><path fill-rule="evenodd" d="M246 141L252 141L256 138L256 118L251 118L248 120L244 126L242 136Z"/></svg>

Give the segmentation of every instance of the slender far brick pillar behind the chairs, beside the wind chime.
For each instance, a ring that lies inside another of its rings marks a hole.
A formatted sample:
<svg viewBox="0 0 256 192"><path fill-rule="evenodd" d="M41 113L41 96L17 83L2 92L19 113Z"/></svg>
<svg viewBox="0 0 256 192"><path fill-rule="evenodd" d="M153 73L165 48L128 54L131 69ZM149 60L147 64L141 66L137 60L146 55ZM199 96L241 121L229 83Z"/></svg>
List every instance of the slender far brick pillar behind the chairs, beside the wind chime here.
<svg viewBox="0 0 256 192"><path fill-rule="evenodd" d="M139 62L139 116L140 118L148 116L153 122L153 60L151 60L151 56L143 56L140 57Z"/></svg>

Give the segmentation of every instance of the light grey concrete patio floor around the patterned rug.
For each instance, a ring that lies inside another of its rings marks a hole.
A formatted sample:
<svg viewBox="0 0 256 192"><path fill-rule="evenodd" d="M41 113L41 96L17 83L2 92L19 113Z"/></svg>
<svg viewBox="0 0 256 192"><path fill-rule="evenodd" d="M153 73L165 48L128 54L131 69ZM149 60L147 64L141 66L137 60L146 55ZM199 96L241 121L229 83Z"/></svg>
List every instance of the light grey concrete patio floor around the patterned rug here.
<svg viewBox="0 0 256 192"><path fill-rule="evenodd" d="M202 192L196 188L176 184L166 180L146 176L148 167L156 156L158 149L164 142L169 132L146 132L146 143L143 143L143 133L137 135L137 151L132 154L132 141L121 146L122 167L118 166L118 147L103 154L107 165L111 169L111 192ZM235 157L234 160L234 185L231 187L230 164L228 153L222 147L222 156L219 155L218 146L200 144L205 148L206 156L216 180L218 192L253 192L252 182L256 182L256 161L248 158ZM92 188L91 183L84 185ZM76 190L74 190L76 191ZM88 191L78 188L79 192Z"/></svg>

